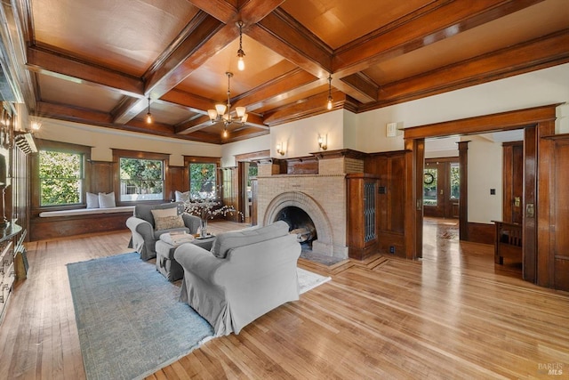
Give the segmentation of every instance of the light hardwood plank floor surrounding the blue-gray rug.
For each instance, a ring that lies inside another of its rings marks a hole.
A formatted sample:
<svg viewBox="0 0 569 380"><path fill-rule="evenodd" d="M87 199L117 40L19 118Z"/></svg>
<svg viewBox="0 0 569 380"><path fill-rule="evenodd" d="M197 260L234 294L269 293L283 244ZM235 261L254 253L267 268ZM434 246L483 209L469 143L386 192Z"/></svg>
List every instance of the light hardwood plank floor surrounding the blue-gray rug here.
<svg viewBox="0 0 569 380"><path fill-rule="evenodd" d="M569 295L494 265L493 247L459 243L455 230L426 222L417 262L300 260L333 280L148 378L569 378ZM128 239L28 244L28 279L0 327L0 379L84 378L65 264L129 252Z"/></svg>

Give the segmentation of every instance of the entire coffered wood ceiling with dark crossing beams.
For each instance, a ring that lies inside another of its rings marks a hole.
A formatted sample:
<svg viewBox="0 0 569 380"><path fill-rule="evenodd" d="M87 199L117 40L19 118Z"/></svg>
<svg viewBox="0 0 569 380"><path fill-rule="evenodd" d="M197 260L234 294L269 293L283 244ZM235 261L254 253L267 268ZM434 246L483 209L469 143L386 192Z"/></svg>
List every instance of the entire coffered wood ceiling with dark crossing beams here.
<svg viewBox="0 0 569 380"><path fill-rule="evenodd" d="M212 143L327 112L329 75L333 109L363 112L569 61L568 0L13 0L12 7L32 115ZM236 68L238 20L244 71ZM227 71L232 109L246 107L249 118L223 138L207 109L227 100Z"/></svg>

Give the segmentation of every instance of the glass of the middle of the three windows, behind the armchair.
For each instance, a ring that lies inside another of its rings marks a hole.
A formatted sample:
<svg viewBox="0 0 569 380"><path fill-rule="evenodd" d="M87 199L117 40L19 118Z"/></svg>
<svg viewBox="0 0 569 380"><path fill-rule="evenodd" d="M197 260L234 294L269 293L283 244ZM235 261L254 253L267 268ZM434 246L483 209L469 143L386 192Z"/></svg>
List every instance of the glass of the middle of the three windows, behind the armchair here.
<svg viewBox="0 0 569 380"><path fill-rule="evenodd" d="M119 158L121 201L164 199L164 160Z"/></svg>

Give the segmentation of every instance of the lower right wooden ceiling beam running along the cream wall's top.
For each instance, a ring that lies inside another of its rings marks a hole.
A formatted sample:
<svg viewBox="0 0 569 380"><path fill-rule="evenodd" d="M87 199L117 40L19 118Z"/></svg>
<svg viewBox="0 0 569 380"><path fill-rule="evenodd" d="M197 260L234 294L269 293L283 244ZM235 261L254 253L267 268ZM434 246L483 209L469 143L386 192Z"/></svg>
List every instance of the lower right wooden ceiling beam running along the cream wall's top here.
<svg viewBox="0 0 569 380"><path fill-rule="evenodd" d="M381 87L373 108L545 69L569 61L569 29ZM369 110L366 106L360 111Z"/></svg>

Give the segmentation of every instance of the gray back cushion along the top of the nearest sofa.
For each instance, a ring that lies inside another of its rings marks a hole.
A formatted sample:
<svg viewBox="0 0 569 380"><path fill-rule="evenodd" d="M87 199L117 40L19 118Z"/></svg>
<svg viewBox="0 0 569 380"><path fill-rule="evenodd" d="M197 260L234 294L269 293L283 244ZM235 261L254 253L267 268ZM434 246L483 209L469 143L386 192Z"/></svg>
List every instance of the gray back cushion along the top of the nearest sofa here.
<svg viewBox="0 0 569 380"><path fill-rule="evenodd" d="M239 230L221 233L213 241L212 255L224 259L228 250L236 247L248 246L268 239L280 238L288 235L288 224L283 221L274 222L265 227L252 230Z"/></svg>

